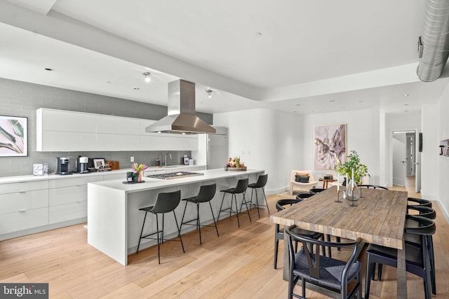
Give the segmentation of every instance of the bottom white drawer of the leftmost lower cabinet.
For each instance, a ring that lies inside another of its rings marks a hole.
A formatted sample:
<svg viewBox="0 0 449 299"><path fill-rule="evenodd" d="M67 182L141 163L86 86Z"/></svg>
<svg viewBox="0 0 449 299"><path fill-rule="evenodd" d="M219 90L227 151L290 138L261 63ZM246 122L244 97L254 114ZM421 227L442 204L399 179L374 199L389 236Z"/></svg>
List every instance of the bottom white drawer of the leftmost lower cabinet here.
<svg viewBox="0 0 449 299"><path fill-rule="evenodd" d="M0 235L48 224L48 207L0 215Z"/></svg>

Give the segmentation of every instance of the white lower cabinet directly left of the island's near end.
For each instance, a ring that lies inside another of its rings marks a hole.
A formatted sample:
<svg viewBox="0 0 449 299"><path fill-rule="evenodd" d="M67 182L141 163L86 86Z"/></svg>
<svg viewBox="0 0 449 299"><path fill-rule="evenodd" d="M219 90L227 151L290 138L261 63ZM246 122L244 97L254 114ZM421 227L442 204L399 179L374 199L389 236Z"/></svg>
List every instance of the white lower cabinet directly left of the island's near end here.
<svg viewBox="0 0 449 299"><path fill-rule="evenodd" d="M87 183L102 181L102 176L51 180L48 189L48 223L87 218Z"/></svg>

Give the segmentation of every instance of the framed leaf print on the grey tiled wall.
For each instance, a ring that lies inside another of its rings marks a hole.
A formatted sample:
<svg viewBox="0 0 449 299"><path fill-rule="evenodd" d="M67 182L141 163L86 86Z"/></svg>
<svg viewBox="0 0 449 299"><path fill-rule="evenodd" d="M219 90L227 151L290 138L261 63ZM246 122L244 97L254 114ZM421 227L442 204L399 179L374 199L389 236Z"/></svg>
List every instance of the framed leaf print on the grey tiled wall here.
<svg viewBox="0 0 449 299"><path fill-rule="evenodd" d="M0 116L0 157L28 155L28 118Z"/></svg>

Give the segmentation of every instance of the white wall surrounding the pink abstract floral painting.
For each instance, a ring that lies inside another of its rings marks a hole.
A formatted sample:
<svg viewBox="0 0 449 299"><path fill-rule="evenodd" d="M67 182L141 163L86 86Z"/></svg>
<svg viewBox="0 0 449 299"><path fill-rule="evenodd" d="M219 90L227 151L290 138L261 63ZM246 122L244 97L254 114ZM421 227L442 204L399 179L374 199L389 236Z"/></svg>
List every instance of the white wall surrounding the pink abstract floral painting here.
<svg viewBox="0 0 449 299"><path fill-rule="evenodd" d="M347 124L347 154L356 151L361 162L368 167L370 183L379 182L379 108L344 111L335 113L309 114L304 116L304 139L302 139L303 164L305 169L312 169L316 175L333 171L314 170L314 126Z"/></svg>

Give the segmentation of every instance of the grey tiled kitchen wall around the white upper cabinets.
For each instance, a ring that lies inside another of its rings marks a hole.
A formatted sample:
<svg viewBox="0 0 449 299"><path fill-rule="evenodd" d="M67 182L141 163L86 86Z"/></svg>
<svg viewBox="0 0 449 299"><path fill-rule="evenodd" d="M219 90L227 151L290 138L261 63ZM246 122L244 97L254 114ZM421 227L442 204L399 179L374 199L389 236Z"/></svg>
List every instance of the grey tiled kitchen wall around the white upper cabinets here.
<svg viewBox="0 0 449 299"><path fill-rule="evenodd" d="M189 151L38 152L36 151L36 109L39 108L152 120L159 120L167 115L166 106L0 78L0 115L28 118L28 156L0 157L0 176L32 174L35 163L48 163L48 172L55 172L58 157L69 158L69 169L75 170L76 158L79 155L119 161L121 168L128 168L131 165L130 157L134 157L135 162L154 165L156 158L163 162L166 153L171 153L172 159L168 156L168 164L175 165L181 164L183 155L191 154ZM211 114L198 113L198 116L206 123L212 124Z"/></svg>

